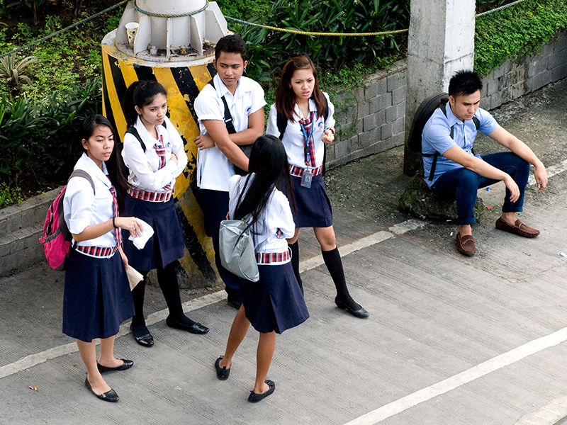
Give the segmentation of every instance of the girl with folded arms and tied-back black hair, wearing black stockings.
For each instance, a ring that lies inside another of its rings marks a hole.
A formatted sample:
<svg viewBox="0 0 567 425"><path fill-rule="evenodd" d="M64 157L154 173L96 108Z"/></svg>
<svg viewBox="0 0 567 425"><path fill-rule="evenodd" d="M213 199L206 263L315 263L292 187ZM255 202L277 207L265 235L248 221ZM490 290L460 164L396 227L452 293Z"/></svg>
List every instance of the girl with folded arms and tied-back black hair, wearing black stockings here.
<svg viewBox="0 0 567 425"><path fill-rule="evenodd" d="M130 265L146 276L157 268L169 316L167 326L206 334L208 328L186 317L181 307L175 261L184 254L181 224L174 206L175 179L187 165L183 141L167 112L167 91L157 81L135 81L124 94L122 108L128 124L122 157L130 170L133 186L125 200L127 215L135 215L154 229L143 249L124 238ZM151 347L154 339L144 319L145 282L132 291L135 315L130 329L141 346Z"/></svg>

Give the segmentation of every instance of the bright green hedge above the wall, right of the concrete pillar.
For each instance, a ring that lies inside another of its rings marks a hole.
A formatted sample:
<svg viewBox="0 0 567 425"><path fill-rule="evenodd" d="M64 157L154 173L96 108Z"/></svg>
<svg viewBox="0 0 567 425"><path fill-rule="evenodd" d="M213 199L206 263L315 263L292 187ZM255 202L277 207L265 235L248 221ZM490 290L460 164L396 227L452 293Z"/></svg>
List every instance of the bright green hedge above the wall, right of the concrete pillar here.
<svg viewBox="0 0 567 425"><path fill-rule="evenodd" d="M567 0L527 0L476 20L474 70L484 76L506 60L533 54L567 28Z"/></svg>

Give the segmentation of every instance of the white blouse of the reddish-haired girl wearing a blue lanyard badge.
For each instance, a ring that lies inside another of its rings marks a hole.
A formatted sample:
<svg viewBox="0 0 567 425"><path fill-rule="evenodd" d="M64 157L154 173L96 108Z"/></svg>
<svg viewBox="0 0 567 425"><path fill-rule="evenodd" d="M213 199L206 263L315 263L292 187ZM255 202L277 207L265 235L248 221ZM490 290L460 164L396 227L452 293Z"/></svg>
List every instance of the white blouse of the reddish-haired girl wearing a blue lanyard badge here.
<svg viewBox="0 0 567 425"><path fill-rule="evenodd" d="M335 106L331 103L328 94L323 92L323 96L327 98L327 103L329 104L329 116L327 116L327 120L325 121L324 116L317 117L317 113L315 113L315 117L313 118L315 120L315 130L313 130L313 142L315 143L315 166L320 166L323 162L323 154L325 153L325 144L321 141L323 131L325 128L335 127L335 118L333 118ZM309 99L309 111L317 111L315 101L312 99ZM281 142L283 143L283 147L286 148L289 164L304 169L305 148L303 144L303 132L301 132L301 125L299 125L299 120L304 117L299 106L297 106L297 103L295 105L294 112L296 121L288 120L288 125L286 127L286 131L283 133ZM279 137L277 120L276 104L274 103L274 105L270 106L266 135Z"/></svg>

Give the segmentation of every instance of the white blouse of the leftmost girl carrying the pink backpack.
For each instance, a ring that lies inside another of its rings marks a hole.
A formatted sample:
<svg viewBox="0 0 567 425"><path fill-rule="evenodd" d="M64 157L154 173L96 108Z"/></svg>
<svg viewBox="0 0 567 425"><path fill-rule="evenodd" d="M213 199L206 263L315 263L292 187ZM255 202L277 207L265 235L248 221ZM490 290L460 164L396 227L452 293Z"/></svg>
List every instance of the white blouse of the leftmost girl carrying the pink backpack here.
<svg viewBox="0 0 567 425"><path fill-rule="evenodd" d="M83 152L74 169L84 170L94 181L96 195L91 183L82 177L73 177L67 184L63 199L63 217L73 234L82 233L87 226L98 225L112 220L111 181L106 176L106 164L99 169L92 159ZM116 246L114 232L108 232L95 239L77 242L79 246Z"/></svg>

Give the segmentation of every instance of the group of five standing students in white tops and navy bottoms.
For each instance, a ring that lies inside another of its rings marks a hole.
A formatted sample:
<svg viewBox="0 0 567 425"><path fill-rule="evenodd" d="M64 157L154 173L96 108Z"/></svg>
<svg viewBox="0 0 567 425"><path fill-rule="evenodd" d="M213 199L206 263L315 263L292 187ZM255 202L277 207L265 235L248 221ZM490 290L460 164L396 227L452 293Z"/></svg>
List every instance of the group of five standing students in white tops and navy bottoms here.
<svg viewBox="0 0 567 425"><path fill-rule="evenodd" d="M235 351L252 324L259 332L259 344L248 400L259 402L274 392L275 384L266 376L276 334L309 317L299 276L299 228L313 227L337 289L337 307L359 318L369 313L349 294L335 243L322 180L325 144L335 138L334 107L319 88L313 62L299 56L283 67L266 135L264 91L242 76L247 66L242 38L221 38L213 64L217 74L194 103L201 130L194 140L197 184L228 304L238 310L215 370L220 380L229 377ZM208 332L186 317L179 295L175 261L184 254L184 239L173 191L187 156L166 116L167 91L156 81L136 81L128 87L122 106L128 131L121 154L115 149L111 123L102 115L87 118L83 154L74 168L89 173L95 184L91 187L86 179L72 178L64 198L64 219L76 246L65 275L63 332L77 340L87 369L86 387L108 402L117 402L118 395L101 373L133 365L114 356L120 324L132 317L135 341L154 345L143 314L145 284L142 280L130 293L126 268L142 276L157 269L169 327L193 334ZM252 145L249 157L241 149L247 145ZM247 220L252 229L257 283L238 278L220 263L218 229L227 217ZM146 223L154 234L143 249L137 249L133 238L142 235ZM101 339L98 360L94 339Z"/></svg>

